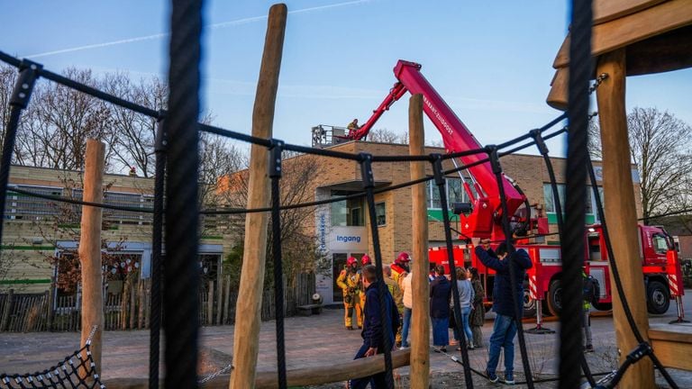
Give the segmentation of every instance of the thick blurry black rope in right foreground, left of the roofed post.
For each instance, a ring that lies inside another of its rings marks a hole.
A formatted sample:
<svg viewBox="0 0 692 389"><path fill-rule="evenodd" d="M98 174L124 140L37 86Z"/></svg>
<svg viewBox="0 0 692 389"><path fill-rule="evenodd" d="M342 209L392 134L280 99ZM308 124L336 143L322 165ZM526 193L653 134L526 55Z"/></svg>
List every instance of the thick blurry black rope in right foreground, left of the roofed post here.
<svg viewBox="0 0 692 389"><path fill-rule="evenodd" d="M562 312L560 315L560 388L579 385L581 353L581 267L584 263L588 88L592 72L591 1L572 1L569 44L569 133L564 244L562 244ZM558 199L560 201L560 199Z"/></svg>

